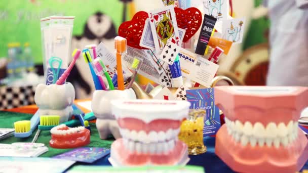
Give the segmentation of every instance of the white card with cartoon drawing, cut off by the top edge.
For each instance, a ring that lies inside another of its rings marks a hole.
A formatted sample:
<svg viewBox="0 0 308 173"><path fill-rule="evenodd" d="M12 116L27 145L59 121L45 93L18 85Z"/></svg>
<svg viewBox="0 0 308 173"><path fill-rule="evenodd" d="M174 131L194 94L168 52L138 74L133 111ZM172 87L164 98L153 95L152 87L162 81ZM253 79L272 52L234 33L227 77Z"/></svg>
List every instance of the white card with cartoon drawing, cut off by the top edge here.
<svg viewBox="0 0 308 173"><path fill-rule="evenodd" d="M204 13L215 17L217 22L227 20L229 0L203 0Z"/></svg>

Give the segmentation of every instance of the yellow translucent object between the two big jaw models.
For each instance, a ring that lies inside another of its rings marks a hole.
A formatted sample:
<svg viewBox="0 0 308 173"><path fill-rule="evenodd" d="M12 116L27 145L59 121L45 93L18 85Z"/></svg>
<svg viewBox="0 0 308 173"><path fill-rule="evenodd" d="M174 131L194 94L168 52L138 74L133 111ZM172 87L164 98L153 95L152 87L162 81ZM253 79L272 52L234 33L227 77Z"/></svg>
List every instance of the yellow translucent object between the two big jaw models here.
<svg viewBox="0 0 308 173"><path fill-rule="evenodd" d="M188 154L198 155L206 152L203 143L205 110L190 110L189 116L180 126L179 140L188 147Z"/></svg>

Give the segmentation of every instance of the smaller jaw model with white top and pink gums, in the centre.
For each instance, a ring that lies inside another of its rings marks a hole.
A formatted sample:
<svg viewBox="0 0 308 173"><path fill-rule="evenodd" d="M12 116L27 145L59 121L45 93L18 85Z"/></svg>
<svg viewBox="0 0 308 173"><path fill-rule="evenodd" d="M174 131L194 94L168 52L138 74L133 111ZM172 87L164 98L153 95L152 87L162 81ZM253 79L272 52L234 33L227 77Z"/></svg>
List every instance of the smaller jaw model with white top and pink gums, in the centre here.
<svg viewBox="0 0 308 173"><path fill-rule="evenodd" d="M187 146L177 139L189 102L165 100L112 101L112 114L122 138L111 145L113 166L185 165Z"/></svg>

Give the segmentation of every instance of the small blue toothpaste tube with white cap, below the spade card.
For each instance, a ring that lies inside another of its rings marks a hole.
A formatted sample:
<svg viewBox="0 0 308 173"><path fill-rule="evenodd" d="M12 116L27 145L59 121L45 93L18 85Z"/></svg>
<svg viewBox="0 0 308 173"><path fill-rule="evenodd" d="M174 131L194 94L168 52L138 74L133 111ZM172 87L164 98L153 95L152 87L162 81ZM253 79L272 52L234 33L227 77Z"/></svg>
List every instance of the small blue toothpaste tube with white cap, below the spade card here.
<svg viewBox="0 0 308 173"><path fill-rule="evenodd" d="M183 85L183 77L181 72L181 66L179 61L179 55L176 56L172 65L169 65L172 76L172 87L179 88Z"/></svg>

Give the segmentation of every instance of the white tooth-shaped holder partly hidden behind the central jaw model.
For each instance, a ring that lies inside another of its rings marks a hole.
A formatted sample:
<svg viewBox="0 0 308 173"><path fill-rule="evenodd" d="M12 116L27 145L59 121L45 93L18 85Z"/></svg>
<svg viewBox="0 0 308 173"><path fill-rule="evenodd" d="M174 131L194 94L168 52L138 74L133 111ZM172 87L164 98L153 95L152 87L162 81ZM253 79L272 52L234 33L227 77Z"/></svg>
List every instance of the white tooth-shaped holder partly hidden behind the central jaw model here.
<svg viewBox="0 0 308 173"><path fill-rule="evenodd" d="M96 119L96 127L99 137L103 140L108 135L112 135L115 139L121 138L118 122L111 113L112 100L135 100L136 94L133 89L128 90L96 90L92 98L92 111Z"/></svg>

